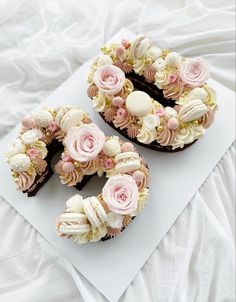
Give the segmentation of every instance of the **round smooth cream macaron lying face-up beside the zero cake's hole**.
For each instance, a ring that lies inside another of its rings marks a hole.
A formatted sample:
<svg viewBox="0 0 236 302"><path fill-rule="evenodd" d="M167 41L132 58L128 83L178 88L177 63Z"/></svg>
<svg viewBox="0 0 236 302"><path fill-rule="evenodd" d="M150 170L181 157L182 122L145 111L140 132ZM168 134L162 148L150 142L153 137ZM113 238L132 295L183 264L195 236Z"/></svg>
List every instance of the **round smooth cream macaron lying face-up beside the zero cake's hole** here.
<svg viewBox="0 0 236 302"><path fill-rule="evenodd" d="M134 116L145 116L152 109L152 101L146 92L134 91L126 99L126 108Z"/></svg>

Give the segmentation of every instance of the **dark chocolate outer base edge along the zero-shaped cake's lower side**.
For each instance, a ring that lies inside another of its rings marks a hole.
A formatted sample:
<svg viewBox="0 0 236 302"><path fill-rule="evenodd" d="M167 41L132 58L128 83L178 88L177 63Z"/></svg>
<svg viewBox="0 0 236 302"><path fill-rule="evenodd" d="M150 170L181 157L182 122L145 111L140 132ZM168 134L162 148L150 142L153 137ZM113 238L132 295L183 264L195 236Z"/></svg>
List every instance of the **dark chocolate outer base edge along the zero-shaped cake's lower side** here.
<svg viewBox="0 0 236 302"><path fill-rule="evenodd" d="M175 153L175 152L179 152L179 151L183 151L185 149L187 149L188 147L192 146L197 140L193 141L191 144L187 144L184 145L183 148L176 148L176 149L172 149L171 146L162 146L160 144L158 144L157 141L151 142L150 144L143 144L141 142L139 142L136 138L131 138L128 136L128 134L126 133L125 130L121 130L120 128L116 128L115 125L112 122L107 122L104 118L104 116L102 115L102 113L100 113L100 116L102 117L102 119L109 125L111 126L114 130L116 130L117 132L119 132L121 135L123 135L125 138L127 138L128 140L132 141L133 143L151 149L151 150L155 150L155 151L160 151L160 152L169 152L169 153Z"/></svg>

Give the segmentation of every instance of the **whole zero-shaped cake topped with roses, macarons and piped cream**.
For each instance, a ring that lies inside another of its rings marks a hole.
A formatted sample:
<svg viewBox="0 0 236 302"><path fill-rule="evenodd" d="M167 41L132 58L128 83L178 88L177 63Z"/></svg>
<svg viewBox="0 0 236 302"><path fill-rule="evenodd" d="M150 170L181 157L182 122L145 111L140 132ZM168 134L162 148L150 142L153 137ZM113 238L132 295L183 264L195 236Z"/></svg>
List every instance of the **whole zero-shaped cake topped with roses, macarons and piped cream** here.
<svg viewBox="0 0 236 302"><path fill-rule="evenodd" d="M215 91L207 63L161 49L139 35L102 47L88 75L96 111L125 137L158 151L180 151L211 126Z"/></svg>

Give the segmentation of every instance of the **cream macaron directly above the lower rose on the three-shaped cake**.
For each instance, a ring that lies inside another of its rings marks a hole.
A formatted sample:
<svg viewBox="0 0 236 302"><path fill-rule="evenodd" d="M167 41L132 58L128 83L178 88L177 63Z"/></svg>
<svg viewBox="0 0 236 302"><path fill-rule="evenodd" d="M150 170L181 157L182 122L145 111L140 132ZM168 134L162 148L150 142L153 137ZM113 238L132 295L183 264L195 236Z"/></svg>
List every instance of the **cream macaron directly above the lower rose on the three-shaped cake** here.
<svg viewBox="0 0 236 302"><path fill-rule="evenodd" d="M141 162L138 153L124 152L115 157L115 170L117 173L129 173L140 169Z"/></svg>

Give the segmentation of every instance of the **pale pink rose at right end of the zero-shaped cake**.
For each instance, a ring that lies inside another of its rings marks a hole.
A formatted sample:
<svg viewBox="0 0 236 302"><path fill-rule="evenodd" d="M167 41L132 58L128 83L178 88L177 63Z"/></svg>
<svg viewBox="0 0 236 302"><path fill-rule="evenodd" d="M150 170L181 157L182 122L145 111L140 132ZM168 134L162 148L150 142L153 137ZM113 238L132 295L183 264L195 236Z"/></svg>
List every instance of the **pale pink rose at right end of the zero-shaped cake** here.
<svg viewBox="0 0 236 302"><path fill-rule="evenodd" d="M187 59L180 66L180 78L191 87L201 86L209 78L208 66L200 58Z"/></svg>

